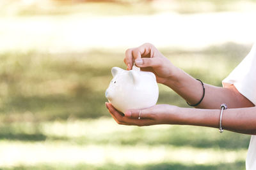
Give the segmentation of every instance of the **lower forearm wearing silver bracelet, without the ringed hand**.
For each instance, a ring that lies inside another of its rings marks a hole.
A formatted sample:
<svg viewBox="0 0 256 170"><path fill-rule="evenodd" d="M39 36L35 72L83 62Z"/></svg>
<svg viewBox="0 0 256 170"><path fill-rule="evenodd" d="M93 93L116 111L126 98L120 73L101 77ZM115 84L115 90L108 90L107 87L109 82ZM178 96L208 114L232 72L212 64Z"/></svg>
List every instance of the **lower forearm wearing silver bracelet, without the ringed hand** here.
<svg viewBox="0 0 256 170"><path fill-rule="evenodd" d="M194 108L177 108L177 122L182 125L220 127L220 109L202 110ZM172 120L169 120L172 122ZM256 107L236 108L223 111L222 128L243 134L256 134Z"/></svg>

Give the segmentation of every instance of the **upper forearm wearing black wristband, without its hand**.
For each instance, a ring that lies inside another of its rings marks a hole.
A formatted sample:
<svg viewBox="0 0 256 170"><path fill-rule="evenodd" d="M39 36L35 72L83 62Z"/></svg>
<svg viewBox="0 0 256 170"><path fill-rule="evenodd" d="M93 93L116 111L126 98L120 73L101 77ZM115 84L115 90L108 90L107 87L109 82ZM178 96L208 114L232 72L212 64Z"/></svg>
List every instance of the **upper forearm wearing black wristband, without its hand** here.
<svg viewBox="0 0 256 170"><path fill-rule="evenodd" d="M175 77L168 78L164 85L173 89L183 97L188 103L195 104L200 101L203 88L200 81L181 69L175 70ZM254 106L246 97L242 96L234 85L229 88L214 87L204 83L205 96L203 101L196 108L217 109L220 104L227 104L228 108L245 108Z"/></svg>

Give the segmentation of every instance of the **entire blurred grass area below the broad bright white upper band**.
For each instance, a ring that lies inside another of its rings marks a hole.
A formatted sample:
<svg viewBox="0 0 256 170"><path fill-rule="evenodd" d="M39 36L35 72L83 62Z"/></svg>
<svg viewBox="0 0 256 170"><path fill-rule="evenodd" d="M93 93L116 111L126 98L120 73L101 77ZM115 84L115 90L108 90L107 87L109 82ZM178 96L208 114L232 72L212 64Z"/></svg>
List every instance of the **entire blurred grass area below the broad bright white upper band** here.
<svg viewBox="0 0 256 170"><path fill-rule="evenodd" d="M161 52L194 77L221 85L249 50L227 43ZM117 125L104 106L104 91L111 67L125 67L123 56L118 49L1 53L0 168L244 169L250 136L204 127ZM163 85L158 103L187 107Z"/></svg>

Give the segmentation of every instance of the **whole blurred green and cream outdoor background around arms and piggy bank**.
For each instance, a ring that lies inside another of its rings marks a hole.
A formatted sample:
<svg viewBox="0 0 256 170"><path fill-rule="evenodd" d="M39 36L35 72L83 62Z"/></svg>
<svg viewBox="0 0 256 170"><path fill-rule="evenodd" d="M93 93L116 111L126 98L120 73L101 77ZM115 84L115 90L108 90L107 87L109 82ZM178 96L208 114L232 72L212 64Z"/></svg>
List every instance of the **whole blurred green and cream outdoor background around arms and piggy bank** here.
<svg viewBox="0 0 256 170"><path fill-rule="evenodd" d="M0 169L245 169L250 136L117 125L104 92L149 42L221 86L255 40L253 0L0 1ZM159 85L158 103L188 107Z"/></svg>

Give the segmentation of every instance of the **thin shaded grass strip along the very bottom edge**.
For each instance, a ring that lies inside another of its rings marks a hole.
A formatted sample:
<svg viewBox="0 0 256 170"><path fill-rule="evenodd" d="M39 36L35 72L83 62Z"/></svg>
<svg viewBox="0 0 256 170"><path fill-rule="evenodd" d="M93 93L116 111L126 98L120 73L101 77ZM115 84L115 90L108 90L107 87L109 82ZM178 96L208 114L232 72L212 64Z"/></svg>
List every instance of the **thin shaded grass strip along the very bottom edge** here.
<svg viewBox="0 0 256 170"><path fill-rule="evenodd" d="M0 167L1 168L1 167ZM244 162L236 162L230 164L217 164L217 165L184 165L184 164L172 164L172 163L161 163L161 164L144 164L144 165L134 165L134 164L125 164L124 166L117 166L115 164L104 164L103 166L94 166L88 164L77 164L74 166L65 165L65 164L38 164L36 166L16 166L16 167L3 167L3 169L90 169L90 170L164 170L164 169L173 169L173 170L226 170L226 169L245 169Z"/></svg>

